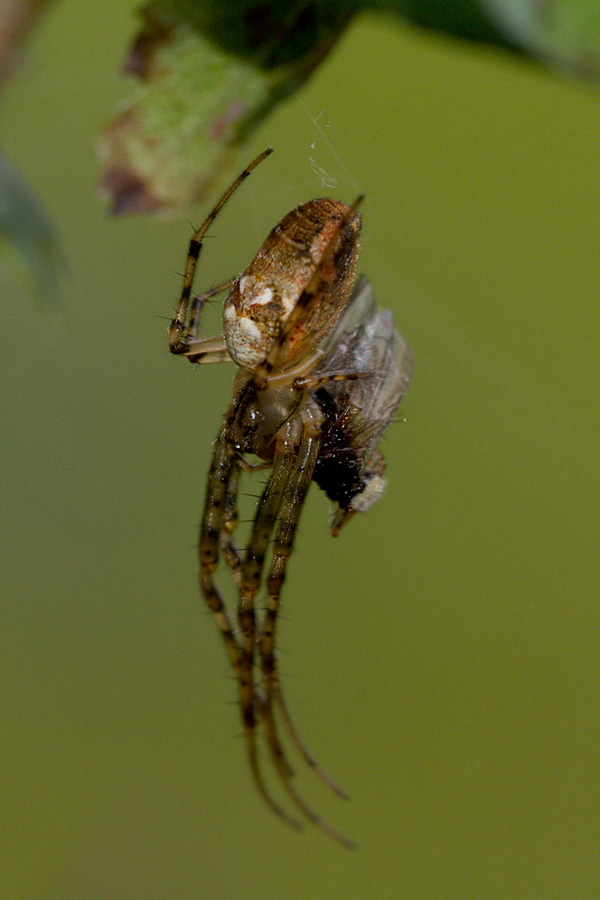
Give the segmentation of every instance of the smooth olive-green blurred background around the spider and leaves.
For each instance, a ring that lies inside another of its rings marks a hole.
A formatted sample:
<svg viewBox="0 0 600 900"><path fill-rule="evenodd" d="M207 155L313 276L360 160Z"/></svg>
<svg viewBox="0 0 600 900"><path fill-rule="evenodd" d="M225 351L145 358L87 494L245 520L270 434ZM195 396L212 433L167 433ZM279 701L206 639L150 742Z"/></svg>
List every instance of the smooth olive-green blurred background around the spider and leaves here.
<svg viewBox="0 0 600 900"><path fill-rule="evenodd" d="M206 244L209 285L364 190L360 269L415 353L384 498L334 541L313 488L284 595L289 703L351 800L297 782L350 854L256 796L198 597L232 370L166 349L190 225L95 194L134 7L58 4L3 98L70 273L57 309L2 285L0 896L600 896L600 97L365 16Z"/></svg>

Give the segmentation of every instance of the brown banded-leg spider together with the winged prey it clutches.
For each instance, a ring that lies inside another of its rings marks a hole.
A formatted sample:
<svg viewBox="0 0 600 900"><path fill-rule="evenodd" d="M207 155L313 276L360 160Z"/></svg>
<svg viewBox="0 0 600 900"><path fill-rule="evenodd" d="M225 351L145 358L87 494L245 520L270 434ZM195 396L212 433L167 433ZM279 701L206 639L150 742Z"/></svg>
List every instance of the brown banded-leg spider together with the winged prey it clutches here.
<svg viewBox="0 0 600 900"><path fill-rule="evenodd" d="M394 331L390 313L377 309L367 279L361 276L353 289L362 197L351 206L318 199L297 207L275 226L240 275L192 296L207 230L271 152L265 150L241 173L194 232L181 297L168 329L169 347L192 363L233 360L238 367L233 399L214 444L198 556L201 592L238 682L254 782L274 813L301 827L265 783L257 748L261 727L292 804L305 819L351 848L353 842L315 813L292 782L276 710L305 762L335 793L347 796L318 766L291 721L275 654L277 615L311 481L333 503L333 535L380 496L385 463L377 443L408 386L412 356ZM203 305L224 291L223 333L198 337ZM270 469L270 474L242 553L234 536L240 476L262 469ZM237 626L214 578L221 555L236 586ZM267 594L262 622L256 609L261 587ZM255 676L257 658L260 678Z"/></svg>

